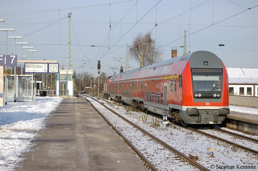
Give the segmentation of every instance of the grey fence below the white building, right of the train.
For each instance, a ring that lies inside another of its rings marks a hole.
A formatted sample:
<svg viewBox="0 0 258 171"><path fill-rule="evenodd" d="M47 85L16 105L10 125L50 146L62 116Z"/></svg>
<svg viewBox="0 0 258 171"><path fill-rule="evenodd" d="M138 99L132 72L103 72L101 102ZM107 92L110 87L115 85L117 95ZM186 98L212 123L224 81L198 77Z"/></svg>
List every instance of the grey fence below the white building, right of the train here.
<svg viewBox="0 0 258 171"><path fill-rule="evenodd" d="M258 108L258 97L230 95L229 96L229 104Z"/></svg>

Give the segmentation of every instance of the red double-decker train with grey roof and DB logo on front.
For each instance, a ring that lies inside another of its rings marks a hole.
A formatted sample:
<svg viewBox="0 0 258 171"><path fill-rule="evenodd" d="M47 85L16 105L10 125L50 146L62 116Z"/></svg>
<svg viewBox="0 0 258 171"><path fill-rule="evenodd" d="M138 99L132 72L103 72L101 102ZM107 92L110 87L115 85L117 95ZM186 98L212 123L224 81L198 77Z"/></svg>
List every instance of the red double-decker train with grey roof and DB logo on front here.
<svg viewBox="0 0 258 171"><path fill-rule="evenodd" d="M104 94L183 124L221 124L229 114L228 74L208 51L115 74Z"/></svg>

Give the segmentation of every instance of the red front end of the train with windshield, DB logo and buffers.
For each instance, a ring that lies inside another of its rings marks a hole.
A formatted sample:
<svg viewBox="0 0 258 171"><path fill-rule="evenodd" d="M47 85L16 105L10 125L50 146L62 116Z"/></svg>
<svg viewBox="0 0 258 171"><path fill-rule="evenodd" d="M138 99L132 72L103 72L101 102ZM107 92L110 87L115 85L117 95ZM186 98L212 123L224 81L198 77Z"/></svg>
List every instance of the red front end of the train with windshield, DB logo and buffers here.
<svg viewBox="0 0 258 171"><path fill-rule="evenodd" d="M180 117L187 124L221 124L229 114L227 70L216 55L217 59L213 53L205 54L199 61L189 59L183 74L189 82L183 82Z"/></svg>

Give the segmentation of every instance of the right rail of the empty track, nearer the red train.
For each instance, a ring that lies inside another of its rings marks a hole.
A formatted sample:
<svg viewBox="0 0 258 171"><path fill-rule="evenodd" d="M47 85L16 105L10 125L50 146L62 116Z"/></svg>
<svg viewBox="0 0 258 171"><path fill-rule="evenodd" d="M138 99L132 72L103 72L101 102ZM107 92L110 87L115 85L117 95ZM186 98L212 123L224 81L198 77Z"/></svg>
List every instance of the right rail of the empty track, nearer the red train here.
<svg viewBox="0 0 258 171"><path fill-rule="evenodd" d="M98 101L94 98L92 98L95 101ZM99 102L99 101L98 101ZM99 102L99 104L101 104L102 106L106 107L108 110L110 110L112 113L118 115L119 117L121 117L122 119L124 119L126 122L132 124L134 127L136 127L137 129L141 130L143 133L147 134L148 136L150 136L151 138L153 138L154 140L156 140L157 142L161 143L163 146L165 146L166 148L172 150L174 153L176 153L177 155L179 155L181 158L183 158L184 160L187 160L191 165L199 168L200 170L206 170L206 171L210 171L208 168L204 167L203 165L199 164L198 162L192 160L190 157L184 155L183 153L181 153L180 151L176 150L175 148L171 147L170 145L168 145L167 143L165 143L164 141L160 140L159 138L153 136L152 134L150 134L149 132L145 131L144 129L140 128L139 126L135 125L134 123L132 123L131 121L127 120L125 117L119 115L118 113L116 113L115 111L113 111L112 109L108 108L107 106L105 106L104 104L102 104L101 102Z"/></svg>

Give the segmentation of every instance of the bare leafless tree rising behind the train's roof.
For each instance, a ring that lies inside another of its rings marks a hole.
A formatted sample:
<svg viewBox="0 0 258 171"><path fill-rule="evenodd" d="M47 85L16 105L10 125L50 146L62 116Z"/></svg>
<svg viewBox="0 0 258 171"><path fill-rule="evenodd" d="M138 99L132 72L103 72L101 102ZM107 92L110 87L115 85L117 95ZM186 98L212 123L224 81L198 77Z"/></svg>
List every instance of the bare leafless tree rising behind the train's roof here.
<svg viewBox="0 0 258 171"><path fill-rule="evenodd" d="M148 32L145 35L139 33L134 37L129 52L139 62L142 52L143 65L150 65L162 61L161 56L164 54L164 49L161 47L155 48L155 40L151 38L151 34Z"/></svg>

